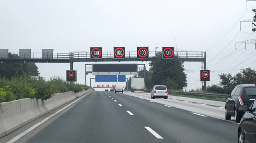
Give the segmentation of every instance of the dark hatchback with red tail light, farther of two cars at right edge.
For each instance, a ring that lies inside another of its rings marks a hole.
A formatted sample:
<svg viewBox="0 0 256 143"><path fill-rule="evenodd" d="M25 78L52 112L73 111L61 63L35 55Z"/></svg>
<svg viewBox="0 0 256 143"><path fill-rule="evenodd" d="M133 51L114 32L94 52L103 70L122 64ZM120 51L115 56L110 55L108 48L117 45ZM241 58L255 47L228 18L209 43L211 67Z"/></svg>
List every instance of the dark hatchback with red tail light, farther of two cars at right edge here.
<svg viewBox="0 0 256 143"><path fill-rule="evenodd" d="M243 116L242 111L238 111L238 108L246 104L248 106L256 98L256 85L255 84L239 84L237 85L230 95L226 94L227 101L225 104L225 119L230 120L231 116L235 117L235 121L238 123Z"/></svg>

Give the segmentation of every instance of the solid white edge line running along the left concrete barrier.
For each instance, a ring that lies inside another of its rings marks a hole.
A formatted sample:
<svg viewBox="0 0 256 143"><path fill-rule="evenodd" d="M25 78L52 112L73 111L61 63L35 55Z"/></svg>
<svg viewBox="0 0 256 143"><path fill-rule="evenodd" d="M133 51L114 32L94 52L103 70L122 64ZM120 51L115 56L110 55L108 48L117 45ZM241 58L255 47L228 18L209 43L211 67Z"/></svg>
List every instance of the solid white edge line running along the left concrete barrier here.
<svg viewBox="0 0 256 143"><path fill-rule="evenodd" d="M89 94L89 93L87 93ZM86 96L87 94L85 94L84 96ZM41 125L42 123L44 123L45 121L47 121L49 118L55 116L57 113L63 111L64 109L68 108L70 105L74 104L75 102L79 101L80 99L82 99L84 96L80 97L79 99L77 99L76 101L73 101L71 104L65 106L64 108L61 108L59 111L56 111L55 113L51 114L50 116L44 118L42 121L36 123L35 125L33 125L32 127L28 128L26 131L23 131L22 133L20 133L18 136L15 136L14 138L12 138L10 141L8 141L7 143L14 143L15 141L18 141L18 139L20 139L21 137L23 137L24 135L26 135L27 133L29 133L30 131L32 131L33 129L35 129L36 127L38 127L39 125Z"/></svg>

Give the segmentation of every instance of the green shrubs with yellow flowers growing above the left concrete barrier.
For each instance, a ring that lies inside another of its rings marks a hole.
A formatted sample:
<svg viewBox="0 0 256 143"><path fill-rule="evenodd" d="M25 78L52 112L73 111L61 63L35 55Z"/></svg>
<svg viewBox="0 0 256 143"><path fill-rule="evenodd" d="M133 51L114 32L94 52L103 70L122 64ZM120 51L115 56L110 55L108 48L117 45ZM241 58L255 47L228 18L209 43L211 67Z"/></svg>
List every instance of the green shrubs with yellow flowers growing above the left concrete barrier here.
<svg viewBox="0 0 256 143"><path fill-rule="evenodd" d="M68 83L58 76L51 77L49 81L38 80L28 75L14 76L10 80L0 77L0 103L24 98L47 100L54 93L78 92L88 88L86 85Z"/></svg>

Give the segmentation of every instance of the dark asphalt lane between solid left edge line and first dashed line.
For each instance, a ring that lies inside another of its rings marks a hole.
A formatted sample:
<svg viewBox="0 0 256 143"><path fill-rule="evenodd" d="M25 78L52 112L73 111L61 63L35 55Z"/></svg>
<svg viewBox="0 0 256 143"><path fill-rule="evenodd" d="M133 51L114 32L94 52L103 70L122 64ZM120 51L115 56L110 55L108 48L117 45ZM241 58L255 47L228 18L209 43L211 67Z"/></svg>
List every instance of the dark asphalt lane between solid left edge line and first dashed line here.
<svg viewBox="0 0 256 143"><path fill-rule="evenodd" d="M103 91L92 92L26 143L154 141L126 111Z"/></svg>

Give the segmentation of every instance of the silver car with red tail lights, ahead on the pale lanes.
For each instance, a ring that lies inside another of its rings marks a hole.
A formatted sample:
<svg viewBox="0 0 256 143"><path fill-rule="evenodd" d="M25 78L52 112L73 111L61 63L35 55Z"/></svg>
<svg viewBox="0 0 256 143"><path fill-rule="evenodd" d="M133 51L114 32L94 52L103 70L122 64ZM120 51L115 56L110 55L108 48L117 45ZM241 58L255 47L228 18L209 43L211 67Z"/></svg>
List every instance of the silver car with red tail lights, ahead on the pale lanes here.
<svg viewBox="0 0 256 143"><path fill-rule="evenodd" d="M168 91L164 85L155 85L151 91L151 99L156 98L168 98Z"/></svg>

